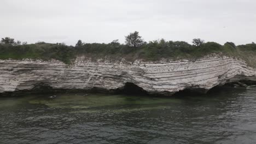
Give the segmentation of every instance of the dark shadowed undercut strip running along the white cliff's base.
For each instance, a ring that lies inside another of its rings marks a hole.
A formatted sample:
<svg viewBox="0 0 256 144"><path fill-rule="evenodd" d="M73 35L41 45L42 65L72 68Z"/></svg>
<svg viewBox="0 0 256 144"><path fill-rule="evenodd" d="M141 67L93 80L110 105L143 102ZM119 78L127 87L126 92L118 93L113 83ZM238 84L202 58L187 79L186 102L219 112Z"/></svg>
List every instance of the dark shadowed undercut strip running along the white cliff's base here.
<svg viewBox="0 0 256 144"><path fill-rule="evenodd" d="M191 88L191 89L184 89L182 91L176 92L176 93L148 93L145 91L142 87L137 86L135 83L127 82L125 83L125 86L118 89L103 89L103 88L91 88L88 90L85 89L53 89L46 83L37 83L33 89L31 90L22 90L22 91L15 91L15 92L4 92L0 93L0 96L20 96L20 95L27 95L27 94L56 94L56 93L76 93L76 92L82 92L82 93L110 93L110 94L127 94L127 95L153 95L158 97L182 97L182 96L199 96L199 95L214 95L221 93L223 91L233 91L234 87L236 89L245 89L247 85L256 85L256 81L250 81L250 80L241 80L238 82L228 82L225 85L219 85L216 87L213 87L209 91L203 88ZM207 94L206 94L207 93Z"/></svg>

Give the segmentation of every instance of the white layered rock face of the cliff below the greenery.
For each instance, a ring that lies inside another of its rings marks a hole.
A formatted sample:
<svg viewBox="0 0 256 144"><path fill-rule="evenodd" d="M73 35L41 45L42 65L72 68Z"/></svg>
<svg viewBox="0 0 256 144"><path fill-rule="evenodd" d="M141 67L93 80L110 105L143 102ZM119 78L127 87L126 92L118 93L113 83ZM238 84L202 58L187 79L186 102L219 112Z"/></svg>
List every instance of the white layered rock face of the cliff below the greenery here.
<svg viewBox="0 0 256 144"><path fill-rule="evenodd" d="M226 82L256 81L256 70L229 57L196 61L90 62L67 65L59 61L0 60L0 93L31 90L93 88L112 91L133 83L151 94L171 95L184 89L206 92Z"/></svg>

